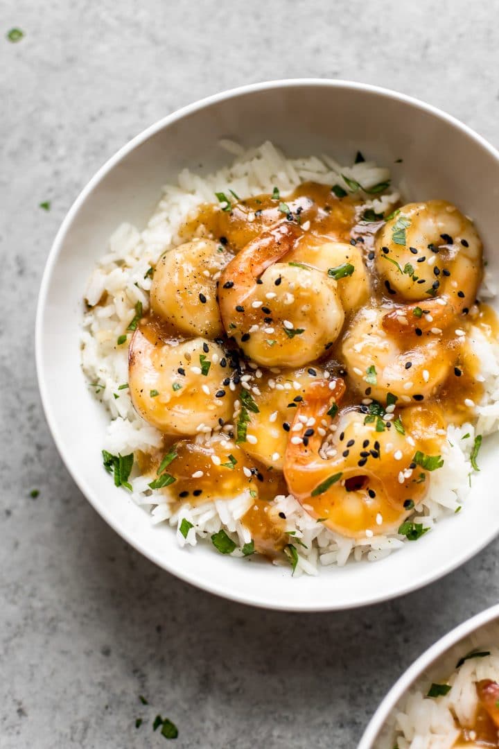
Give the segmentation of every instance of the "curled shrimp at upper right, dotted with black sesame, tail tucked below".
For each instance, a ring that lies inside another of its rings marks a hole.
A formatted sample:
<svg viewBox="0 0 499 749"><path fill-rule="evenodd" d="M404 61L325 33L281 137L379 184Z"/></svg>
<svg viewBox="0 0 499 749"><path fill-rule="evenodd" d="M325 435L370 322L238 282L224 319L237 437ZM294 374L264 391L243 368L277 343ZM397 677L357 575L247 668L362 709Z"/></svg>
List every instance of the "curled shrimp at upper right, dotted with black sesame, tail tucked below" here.
<svg viewBox="0 0 499 749"><path fill-rule="evenodd" d="M482 241L451 203L408 203L376 237L376 270L388 294L403 300L386 315L387 330L447 327L467 313L482 279ZM414 317L423 309L423 319Z"/></svg>

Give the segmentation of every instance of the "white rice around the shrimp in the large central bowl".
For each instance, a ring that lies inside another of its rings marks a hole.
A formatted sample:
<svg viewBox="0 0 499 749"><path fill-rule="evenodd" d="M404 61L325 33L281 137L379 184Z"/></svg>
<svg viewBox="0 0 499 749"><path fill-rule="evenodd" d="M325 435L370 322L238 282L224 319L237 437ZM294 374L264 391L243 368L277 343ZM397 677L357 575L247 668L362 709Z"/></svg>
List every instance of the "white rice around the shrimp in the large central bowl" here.
<svg viewBox="0 0 499 749"><path fill-rule="evenodd" d="M144 312L149 306L150 277L147 270L156 264L168 248L184 240L180 227L203 202L212 202L215 191L233 190L237 195L259 195L278 187L282 195L292 192L303 181L322 184L340 184L349 189L341 175L346 175L364 187L373 187L390 178L388 169L373 162L340 166L334 159L305 157L287 159L271 143L244 151L238 144L224 141L221 144L236 156L233 164L206 177L184 169L178 183L167 185L156 210L146 228L139 231L123 223L112 234L105 255L100 259L88 282L86 299L97 305L106 292L105 303L94 306L85 314L82 325L82 366L93 383L97 398L107 407L111 421L102 438L102 448L113 455L126 455L135 450L151 451L161 445L162 434L148 425L135 409L128 389L119 389L128 380L127 347L117 347L117 338L126 333L126 327L135 315L135 304L140 301ZM394 189L371 200L365 195L367 207L376 212L391 210L399 200ZM489 289L489 294L494 294ZM452 515L465 500L469 491L471 473L470 453L475 434L489 434L499 425L499 347L492 345L477 328L473 331L474 351L482 362L486 395L477 406L477 426L450 427L448 440L442 451L444 467L432 474L432 490L418 510L417 521L431 528L444 515ZM116 398L115 395L118 397ZM469 437L462 439L465 434ZM205 440L199 435L197 440ZM241 523L242 515L251 505L245 493L233 500L219 500L200 506L184 505L178 509L167 491L150 491L144 476L135 476L132 497L150 509L153 523L168 522L177 528L180 545L194 546L224 528L238 545L249 542L248 531ZM397 533L373 538L352 540L333 533L311 518L292 496L276 497L272 512L284 512L287 530L296 534L303 545L296 545L298 564L296 574L317 574L319 568L345 565L348 560L376 561L400 548L405 536ZM186 518L193 524L187 538L180 533L180 524ZM233 556L240 555L238 550Z"/></svg>

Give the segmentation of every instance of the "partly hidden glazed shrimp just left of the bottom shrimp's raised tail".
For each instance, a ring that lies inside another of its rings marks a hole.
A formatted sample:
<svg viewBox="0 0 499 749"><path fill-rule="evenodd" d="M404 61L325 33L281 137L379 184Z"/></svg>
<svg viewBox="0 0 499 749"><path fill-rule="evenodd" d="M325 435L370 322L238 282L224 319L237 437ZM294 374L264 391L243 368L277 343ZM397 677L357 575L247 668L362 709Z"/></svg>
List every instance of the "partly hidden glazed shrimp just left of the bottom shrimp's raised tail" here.
<svg viewBox="0 0 499 749"><path fill-rule="evenodd" d="M263 465L282 470L295 410L310 383L324 377L324 370L287 370L269 373L257 380L260 395L254 395L258 410L248 410L247 437L242 449ZM248 440L249 437L249 440Z"/></svg>

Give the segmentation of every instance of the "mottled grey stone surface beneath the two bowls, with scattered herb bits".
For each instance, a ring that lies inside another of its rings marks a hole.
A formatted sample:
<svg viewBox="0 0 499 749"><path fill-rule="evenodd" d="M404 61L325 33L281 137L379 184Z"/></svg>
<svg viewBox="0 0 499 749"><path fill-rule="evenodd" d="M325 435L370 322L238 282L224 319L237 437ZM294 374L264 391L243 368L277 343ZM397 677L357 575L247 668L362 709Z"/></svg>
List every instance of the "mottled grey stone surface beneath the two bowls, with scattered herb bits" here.
<svg viewBox="0 0 499 749"><path fill-rule="evenodd" d="M33 355L55 231L131 136L224 88L323 76L413 94L499 145L497 12L495 0L2 3L2 748L161 747L157 712L177 724L179 749L355 748L402 670L498 600L499 542L420 592L357 612L253 610L180 583L73 484ZM15 44L14 26L25 32Z"/></svg>

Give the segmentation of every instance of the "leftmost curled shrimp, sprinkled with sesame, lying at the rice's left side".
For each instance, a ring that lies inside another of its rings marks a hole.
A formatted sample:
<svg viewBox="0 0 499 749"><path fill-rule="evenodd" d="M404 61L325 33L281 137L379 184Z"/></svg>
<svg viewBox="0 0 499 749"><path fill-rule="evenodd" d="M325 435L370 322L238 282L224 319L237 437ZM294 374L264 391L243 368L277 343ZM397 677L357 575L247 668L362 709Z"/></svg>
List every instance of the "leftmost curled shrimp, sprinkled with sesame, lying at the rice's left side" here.
<svg viewBox="0 0 499 749"><path fill-rule="evenodd" d="M196 434L233 413L224 386L224 350L203 338L150 340L140 328L129 348L129 389L135 410L166 434Z"/></svg>

